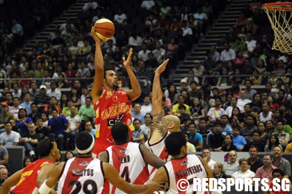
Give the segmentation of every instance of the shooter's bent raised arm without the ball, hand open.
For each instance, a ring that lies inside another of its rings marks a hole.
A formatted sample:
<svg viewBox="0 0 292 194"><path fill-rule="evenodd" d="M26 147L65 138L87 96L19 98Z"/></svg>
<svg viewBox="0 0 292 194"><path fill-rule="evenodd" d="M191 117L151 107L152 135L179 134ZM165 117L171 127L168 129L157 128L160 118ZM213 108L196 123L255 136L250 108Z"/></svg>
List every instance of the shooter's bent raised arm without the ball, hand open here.
<svg viewBox="0 0 292 194"><path fill-rule="evenodd" d="M133 54L133 48L130 48L127 60L124 57L122 58L124 69L126 69L128 73L128 76L131 82L131 87L132 87L132 89L125 90L127 92L127 96L130 101L136 100L142 94L140 84L135 74L133 73L133 70L131 69L132 54Z"/></svg>

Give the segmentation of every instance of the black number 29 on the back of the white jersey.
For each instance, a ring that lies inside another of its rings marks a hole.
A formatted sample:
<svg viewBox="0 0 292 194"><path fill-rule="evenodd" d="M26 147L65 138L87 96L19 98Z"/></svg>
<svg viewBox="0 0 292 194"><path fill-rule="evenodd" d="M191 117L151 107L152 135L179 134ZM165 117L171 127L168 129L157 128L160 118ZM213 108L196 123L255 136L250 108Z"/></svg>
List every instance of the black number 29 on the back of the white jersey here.
<svg viewBox="0 0 292 194"><path fill-rule="evenodd" d="M79 181L72 181L70 182L68 187L73 188L74 185L76 186L76 188L71 192L72 194L78 194L81 189L86 194L97 193L97 184L92 179L86 180L83 185Z"/></svg>

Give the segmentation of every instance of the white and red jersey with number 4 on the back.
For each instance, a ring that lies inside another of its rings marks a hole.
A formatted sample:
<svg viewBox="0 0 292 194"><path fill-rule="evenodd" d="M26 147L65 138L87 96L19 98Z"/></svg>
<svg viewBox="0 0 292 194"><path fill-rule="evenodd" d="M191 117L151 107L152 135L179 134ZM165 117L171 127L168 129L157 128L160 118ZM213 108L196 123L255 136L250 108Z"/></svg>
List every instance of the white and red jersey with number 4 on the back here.
<svg viewBox="0 0 292 194"><path fill-rule="evenodd" d="M120 176L131 184L145 184L149 177L147 164L143 159L139 143L124 143L106 148L108 163L113 165ZM124 193L109 184L104 186L104 193ZM106 191L106 192L105 192Z"/></svg>

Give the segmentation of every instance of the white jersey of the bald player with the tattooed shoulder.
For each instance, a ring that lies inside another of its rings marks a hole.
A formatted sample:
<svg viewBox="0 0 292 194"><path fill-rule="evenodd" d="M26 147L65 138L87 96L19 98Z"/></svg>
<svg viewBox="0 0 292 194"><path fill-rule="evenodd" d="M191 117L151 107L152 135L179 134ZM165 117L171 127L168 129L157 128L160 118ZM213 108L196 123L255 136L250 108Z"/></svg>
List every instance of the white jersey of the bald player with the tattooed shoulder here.
<svg viewBox="0 0 292 194"><path fill-rule="evenodd" d="M164 144L164 140L166 138L166 136L168 136L170 134L170 132L168 132L167 134L165 134L165 136L163 136L163 139L161 139L161 141L154 143L154 144L150 144L149 140L145 142L145 145L148 145L149 148L151 148L152 152L154 153L154 155L158 156L160 159L162 159L163 161L170 161L170 157L168 156L168 151L165 148L165 144ZM156 172L156 168L154 168L153 166L148 166L148 170L150 173L150 177L149 179L152 179L155 175Z"/></svg>

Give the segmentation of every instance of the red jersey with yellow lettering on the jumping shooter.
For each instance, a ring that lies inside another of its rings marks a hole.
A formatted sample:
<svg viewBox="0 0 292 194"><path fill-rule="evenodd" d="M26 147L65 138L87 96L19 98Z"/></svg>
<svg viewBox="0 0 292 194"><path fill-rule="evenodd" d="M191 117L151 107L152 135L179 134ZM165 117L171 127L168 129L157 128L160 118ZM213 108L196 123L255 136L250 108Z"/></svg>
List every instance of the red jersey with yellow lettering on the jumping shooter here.
<svg viewBox="0 0 292 194"><path fill-rule="evenodd" d="M132 104L124 90L111 93L111 91L104 89L93 107L96 113L95 137L97 140L112 143L111 127L117 122L125 123L128 126L132 123Z"/></svg>

